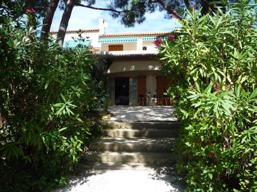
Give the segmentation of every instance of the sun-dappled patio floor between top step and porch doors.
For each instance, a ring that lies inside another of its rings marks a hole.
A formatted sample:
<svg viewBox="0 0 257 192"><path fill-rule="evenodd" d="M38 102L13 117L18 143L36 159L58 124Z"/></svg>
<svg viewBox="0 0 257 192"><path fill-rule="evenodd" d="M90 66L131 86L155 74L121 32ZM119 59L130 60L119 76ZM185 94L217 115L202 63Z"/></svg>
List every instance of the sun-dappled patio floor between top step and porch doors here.
<svg viewBox="0 0 257 192"><path fill-rule="evenodd" d="M111 121L177 121L173 106L116 105L108 109Z"/></svg>

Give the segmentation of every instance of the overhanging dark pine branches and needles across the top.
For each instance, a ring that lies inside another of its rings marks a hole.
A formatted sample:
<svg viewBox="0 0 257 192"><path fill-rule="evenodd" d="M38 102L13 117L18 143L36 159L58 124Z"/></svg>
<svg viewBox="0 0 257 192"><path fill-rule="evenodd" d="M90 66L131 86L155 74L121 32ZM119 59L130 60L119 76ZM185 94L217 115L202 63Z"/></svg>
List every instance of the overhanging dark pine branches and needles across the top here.
<svg viewBox="0 0 257 192"><path fill-rule="evenodd" d="M203 6L202 14L209 12L209 9L216 10L216 6L225 6L230 1L188 1L188 0L113 0L106 1L106 7L96 8L93 5L97 3L96 0L74 0L75 6L86 7L90 9L109 11L113 18L119 18L121 24L126 27L134 27L135 24L141 24L146 18L146 13L153 13L154 11L165 11L165 18L183 18L186 15L186 8L192 9ZM59 4L60 9L66 6L65 0L61 0ZM82 6L84 5L84 6Z"/></svg>

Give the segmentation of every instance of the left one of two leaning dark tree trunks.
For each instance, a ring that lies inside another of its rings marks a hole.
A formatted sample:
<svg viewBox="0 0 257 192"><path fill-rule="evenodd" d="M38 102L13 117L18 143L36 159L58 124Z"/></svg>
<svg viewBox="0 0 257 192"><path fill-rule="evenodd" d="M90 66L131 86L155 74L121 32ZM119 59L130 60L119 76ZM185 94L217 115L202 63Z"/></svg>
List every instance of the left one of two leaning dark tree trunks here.
<svg viewBox="0 0 257 192"><path fill-rule="evenodd" d="M48 34L50 32L50 28L52 25L52 18L53 18L54 12L56 12L59 1L60 0L50 0L49 2L49 5L46 10L46 16L43 20L43 26L41 29L41 36L40 36L41 40L48 38Z"/></svg>

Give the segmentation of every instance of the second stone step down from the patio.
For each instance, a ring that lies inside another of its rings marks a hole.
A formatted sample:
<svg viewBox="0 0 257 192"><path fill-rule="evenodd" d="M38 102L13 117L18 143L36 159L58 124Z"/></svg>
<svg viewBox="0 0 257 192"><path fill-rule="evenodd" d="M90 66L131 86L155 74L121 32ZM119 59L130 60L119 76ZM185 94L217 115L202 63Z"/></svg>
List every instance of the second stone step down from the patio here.
<svg viewBox="0 0 257 192"><path fill-rule="evenodd" d="M178 137L178 129L104 130L107 137Z"/></svg>

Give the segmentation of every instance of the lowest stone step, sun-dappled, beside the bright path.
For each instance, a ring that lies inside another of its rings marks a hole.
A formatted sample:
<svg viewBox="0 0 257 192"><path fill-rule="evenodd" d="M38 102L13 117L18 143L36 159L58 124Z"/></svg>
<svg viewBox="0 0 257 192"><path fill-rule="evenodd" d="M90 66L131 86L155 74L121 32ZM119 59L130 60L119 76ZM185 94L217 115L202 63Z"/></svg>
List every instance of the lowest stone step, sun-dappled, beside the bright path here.
<svg viewBox="0 0 257 192"><path fill-rule="evenodd" d="M115 163L115 164L141 164L141 165L174 165L177 155L172 153L147 153L147 152L87 152L84 160L88 163Z"/></svg>

